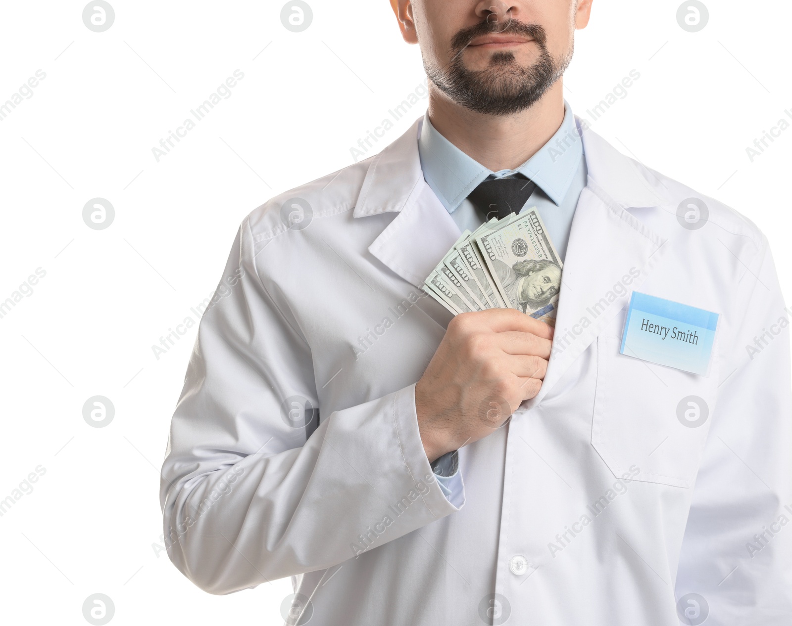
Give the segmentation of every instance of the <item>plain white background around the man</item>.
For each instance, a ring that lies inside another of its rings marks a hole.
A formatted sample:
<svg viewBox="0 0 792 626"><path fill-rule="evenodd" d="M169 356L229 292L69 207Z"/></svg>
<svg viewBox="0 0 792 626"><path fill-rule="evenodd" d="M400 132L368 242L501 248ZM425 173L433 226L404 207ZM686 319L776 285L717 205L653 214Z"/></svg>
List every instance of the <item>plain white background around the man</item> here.
<svg viewBox="0 0 792 626"><path fill-rule="evenodd" d="M299 33L281 0L112 0L105 32L86 28L82 2L2 3L0 104L46 73L0 121L0 301L46 271L0 318L0 499L46 469L0 517L4 622L86 624L94 593L112 598L112 624L281 622L288 580L211 596L158 548L158 469L196 328L159 359L151 346L197 321L249 211L352 163L424 79L386 0L309 2ZM706 3L709 23L690 33L676 0L595 2L566 97L589 117L638 70L594 130L756 222L789 295L792 128L754 162L745 149L792 115L790 4ZM152 147L234 70L232 95L157 162ZM82 220L95 197L115 207L106 230ZM94 395L115 407L106 427L82 417Z"/></svg>

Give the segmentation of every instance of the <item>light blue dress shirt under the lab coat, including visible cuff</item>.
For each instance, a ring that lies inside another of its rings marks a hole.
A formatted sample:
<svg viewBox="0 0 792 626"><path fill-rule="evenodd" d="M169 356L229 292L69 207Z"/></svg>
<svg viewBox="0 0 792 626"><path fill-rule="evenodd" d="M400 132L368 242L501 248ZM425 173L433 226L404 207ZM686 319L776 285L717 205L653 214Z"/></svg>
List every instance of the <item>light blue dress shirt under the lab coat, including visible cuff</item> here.
<svg viewBox="0 0 792 626"><path fill-rule="evenodd" d="M500 172L486 169L440 135L429 121L428 112L421 126L418 154L424 179L463 232L476 230L485 220L484 214L467 199L479 184L487 179L514 176L516 173L533 180L536 189L521 211L526 207L537 207L563 262L577 200L588 178L583 143L568 102L564 101L564 120L558 131L539 152L517 169L502 169ZM451 504L459 506L462 501L462 481L456 451L434 461L432 470L446 498Z"/></svg>

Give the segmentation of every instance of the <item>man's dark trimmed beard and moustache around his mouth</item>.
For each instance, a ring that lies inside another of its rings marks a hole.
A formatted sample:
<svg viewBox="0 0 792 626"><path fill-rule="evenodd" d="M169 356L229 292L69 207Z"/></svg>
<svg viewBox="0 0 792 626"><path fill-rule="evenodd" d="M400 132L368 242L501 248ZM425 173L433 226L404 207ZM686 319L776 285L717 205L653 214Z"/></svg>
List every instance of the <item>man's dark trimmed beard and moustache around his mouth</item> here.
<svg viewBox="0 0 792 626"><path fill-rule="evenodd" d="M462 55L474 37L490 32L506 32L531 37L539 47L539 59L531 66L517 63L511 51L493 52L484 70L468 70ZM561 59L553 59L547 50L547 34L538 24L512 20L505 28L500 24L480 22L463 28L451 40L454 54L447 69L424 60L426 75L440 91L455 103L477 113L509 116L539 101L569 66L573 48Z"/></svg>

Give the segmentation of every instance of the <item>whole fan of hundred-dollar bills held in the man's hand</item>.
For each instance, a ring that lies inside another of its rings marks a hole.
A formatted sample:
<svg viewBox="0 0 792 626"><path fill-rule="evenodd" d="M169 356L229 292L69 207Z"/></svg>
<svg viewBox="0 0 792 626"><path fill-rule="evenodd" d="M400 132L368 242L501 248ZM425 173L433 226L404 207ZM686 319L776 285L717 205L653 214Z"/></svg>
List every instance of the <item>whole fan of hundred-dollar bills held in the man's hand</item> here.
<svg viewBox="0 0 792 626"><path fill-rule="evenodd" d="M534 207L466 230L424 290L454 314L510 308L554 326L562 268Z"/></svg>

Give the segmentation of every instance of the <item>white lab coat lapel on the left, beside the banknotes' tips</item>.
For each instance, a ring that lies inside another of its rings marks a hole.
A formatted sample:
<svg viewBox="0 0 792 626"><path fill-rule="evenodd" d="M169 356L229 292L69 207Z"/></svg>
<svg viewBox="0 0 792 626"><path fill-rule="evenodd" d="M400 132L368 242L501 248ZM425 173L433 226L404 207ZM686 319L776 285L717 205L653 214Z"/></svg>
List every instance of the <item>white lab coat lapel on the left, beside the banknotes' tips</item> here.
<svg viewBox="0 0 792 626"><path fill-rule="evenodd" d="M422 120L372 159L354 213L398 211L368 251L417 287L461 234L424 180L417 142Z"/></svg>

